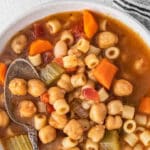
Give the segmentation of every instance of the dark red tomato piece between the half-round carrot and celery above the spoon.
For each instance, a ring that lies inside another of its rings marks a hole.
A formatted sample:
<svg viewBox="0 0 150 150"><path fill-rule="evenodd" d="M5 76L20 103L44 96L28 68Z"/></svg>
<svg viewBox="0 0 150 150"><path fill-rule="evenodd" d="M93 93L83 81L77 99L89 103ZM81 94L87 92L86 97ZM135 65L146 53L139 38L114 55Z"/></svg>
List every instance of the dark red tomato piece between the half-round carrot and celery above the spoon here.
<svg viewBox="0 0 150 150"><path fill-rule="evenodd" d="M53 60L53 53L52 51L47 51L47 52L44 52L42 54L42 58L43 58L43 63L44 64L48 64L50 63L52 60Z"/></svg>

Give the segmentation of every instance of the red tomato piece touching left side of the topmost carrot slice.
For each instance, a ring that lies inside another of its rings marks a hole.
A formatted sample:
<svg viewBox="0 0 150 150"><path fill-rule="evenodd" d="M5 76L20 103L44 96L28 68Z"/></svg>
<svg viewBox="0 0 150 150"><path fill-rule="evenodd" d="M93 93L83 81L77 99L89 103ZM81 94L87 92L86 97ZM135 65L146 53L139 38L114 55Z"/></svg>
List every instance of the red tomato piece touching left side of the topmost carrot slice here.
<svg viewBox="0 0 150 150"><path fill-rule="evenodd" d="M71 32L74 35L75 39L79 39L80 37L84 37L84 29L83 29L83 21L80 21L74 24L71 28Z"/></svg>

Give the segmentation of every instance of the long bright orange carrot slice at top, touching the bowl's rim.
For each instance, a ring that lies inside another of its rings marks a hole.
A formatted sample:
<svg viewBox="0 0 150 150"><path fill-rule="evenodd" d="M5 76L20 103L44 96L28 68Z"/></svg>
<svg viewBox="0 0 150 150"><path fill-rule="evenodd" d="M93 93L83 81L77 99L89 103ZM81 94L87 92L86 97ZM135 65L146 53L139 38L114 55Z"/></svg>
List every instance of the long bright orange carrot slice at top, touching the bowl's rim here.
<svg viewBox="0 0 150 150"><path fill-rule="evenodd" d="M86 36L91 39L98 30L98 24L93 15L85 10L83 11L83 26Z"/></svg>

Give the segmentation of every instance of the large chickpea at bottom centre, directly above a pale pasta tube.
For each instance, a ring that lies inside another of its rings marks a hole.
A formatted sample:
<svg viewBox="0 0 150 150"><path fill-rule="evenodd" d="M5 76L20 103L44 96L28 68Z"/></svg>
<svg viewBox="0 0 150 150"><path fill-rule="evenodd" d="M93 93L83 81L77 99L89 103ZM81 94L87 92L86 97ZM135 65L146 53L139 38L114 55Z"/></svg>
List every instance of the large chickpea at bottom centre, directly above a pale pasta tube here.
<svg viewBox="0 0 150 150"><path fill-rule="evenodd" d="M79 140L83 135L83 128L77 120L72 119L65 126L64 133L73 140Z"/></svg>

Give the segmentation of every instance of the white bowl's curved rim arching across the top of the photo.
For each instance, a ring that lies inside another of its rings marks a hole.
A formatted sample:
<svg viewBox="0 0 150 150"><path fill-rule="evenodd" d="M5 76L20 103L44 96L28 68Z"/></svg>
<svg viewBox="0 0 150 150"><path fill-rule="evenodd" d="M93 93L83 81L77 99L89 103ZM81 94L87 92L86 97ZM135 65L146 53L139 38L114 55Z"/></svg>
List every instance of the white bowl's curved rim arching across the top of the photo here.
<svg viewBox="0 0 150 150"><path fill-rule="evenodd" d="M110 8L100 3L92 1L90 2L85 0L60 0L51 1L49 3L40 5L37 8L33 8L32 10L25 12L24 15L20 16L20 18L18 18L17 20L14 20L14 23L10 25L10 27L0 35L0 51L4 48L5 44L11 38L11 36L14 35L14 33L23 29L35 20L41 19L45 16L58 12L73 10L76 11L82 9L90 9L96 12L104 13L106 15L120 20L121 22L129 26L132 30L137 32L145 41L145 43L150 47L150 33L142 24L140 24L133 17L123 12L120 12L117 9ZM2 150L1 147L0 150Z"/></svg>

